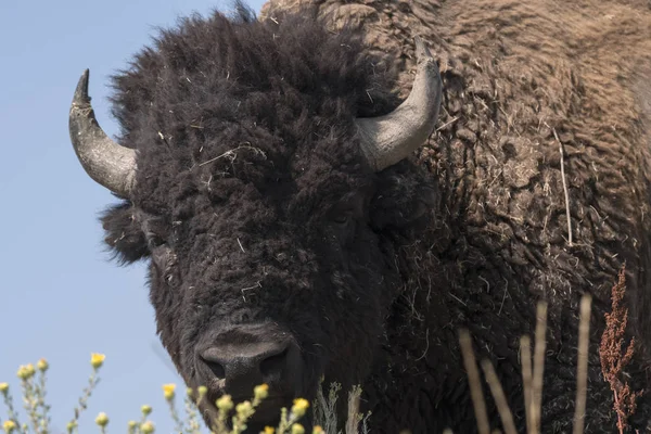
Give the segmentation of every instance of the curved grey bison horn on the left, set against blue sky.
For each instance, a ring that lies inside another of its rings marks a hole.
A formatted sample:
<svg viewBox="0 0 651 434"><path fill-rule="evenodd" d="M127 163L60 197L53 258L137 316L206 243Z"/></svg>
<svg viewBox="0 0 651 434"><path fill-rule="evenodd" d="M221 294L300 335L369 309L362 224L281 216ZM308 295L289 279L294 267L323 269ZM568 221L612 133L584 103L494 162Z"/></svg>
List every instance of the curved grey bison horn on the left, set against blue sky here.
<svg viewBox="0 0 651 434"><path fill-rule="evenodd" d="M136 184L136 151L115 143L98 124L88 97L88 69L77 84L68 128L86 173L112 192L128 197Z"/></svg>

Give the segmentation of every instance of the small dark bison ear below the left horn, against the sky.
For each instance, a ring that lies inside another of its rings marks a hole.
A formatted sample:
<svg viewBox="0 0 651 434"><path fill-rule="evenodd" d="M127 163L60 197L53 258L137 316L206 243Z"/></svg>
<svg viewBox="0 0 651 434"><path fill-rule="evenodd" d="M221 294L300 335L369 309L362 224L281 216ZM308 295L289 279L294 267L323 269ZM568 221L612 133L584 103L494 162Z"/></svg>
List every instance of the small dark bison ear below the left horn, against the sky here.
<svg viewBox="0 0 651 434"><path fill-rule="evenodd" d="M135 263L150 254L137 216L136 208L128 202L108 208L102 216L102 226L106 233L104 242L122 264Z"/></svg>

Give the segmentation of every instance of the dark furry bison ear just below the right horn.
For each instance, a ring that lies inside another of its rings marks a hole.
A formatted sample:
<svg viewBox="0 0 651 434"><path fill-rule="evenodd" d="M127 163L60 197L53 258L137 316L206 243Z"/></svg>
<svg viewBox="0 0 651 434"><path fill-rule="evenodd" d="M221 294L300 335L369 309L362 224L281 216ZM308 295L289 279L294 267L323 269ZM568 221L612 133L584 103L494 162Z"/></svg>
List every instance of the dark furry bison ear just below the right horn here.
<svg viewBox="0 0 651 434"><path fill-rule="evenodd" d="M435 180L409 161L403 161L380 175L371 203L371 225L375 230L410 230L430 222L436 209Z"/></svg>

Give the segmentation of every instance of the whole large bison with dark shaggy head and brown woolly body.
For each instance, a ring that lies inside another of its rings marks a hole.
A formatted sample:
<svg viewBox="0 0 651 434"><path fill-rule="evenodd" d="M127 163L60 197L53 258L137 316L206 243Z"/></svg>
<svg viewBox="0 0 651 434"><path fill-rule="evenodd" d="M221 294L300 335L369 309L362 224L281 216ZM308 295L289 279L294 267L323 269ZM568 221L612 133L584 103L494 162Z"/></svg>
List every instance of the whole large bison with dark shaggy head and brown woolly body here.
<svg viewBox="0 0 651 434"><path fill-rule="evenodd" d="M589 293L586 432L614 432L598 344L624 264L624 374L650 385L648 3L235 10L181 20L112 78L115 141L88 72L69 114L81 165L119 199L105 241L150 264L157 331L187 384L207 386L206 421L264 382L256 432L339 382L361 385L372 432L475 432L467 328L522 429L519 339L546 301L541 423L567 433Z"/></svg>

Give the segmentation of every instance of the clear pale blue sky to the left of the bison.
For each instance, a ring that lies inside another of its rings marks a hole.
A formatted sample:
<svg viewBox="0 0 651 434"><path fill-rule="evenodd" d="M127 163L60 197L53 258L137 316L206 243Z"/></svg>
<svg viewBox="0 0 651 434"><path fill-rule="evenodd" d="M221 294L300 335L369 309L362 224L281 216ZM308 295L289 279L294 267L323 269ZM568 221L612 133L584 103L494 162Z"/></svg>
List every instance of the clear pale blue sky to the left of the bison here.
<svg viewBox="0 0 651 434"><path fill-rule="evenodd" d="M261 0L248 4L259 11ZM143 404L154 407L156 432L170 433L161 385L181 384L155 334L144 265L118 267L102 244L98 215L115 200L87 177L69 142L77 79L90 68L98 119L114 135L108 76L149 43L155 27L228 5L0 1L0 382L9 382L15 397L18 365L46 357L56 432L73 414L92 352L106 360L81 433L98 432L99 411L111 419L108 432L125 433Z"/></svg>

